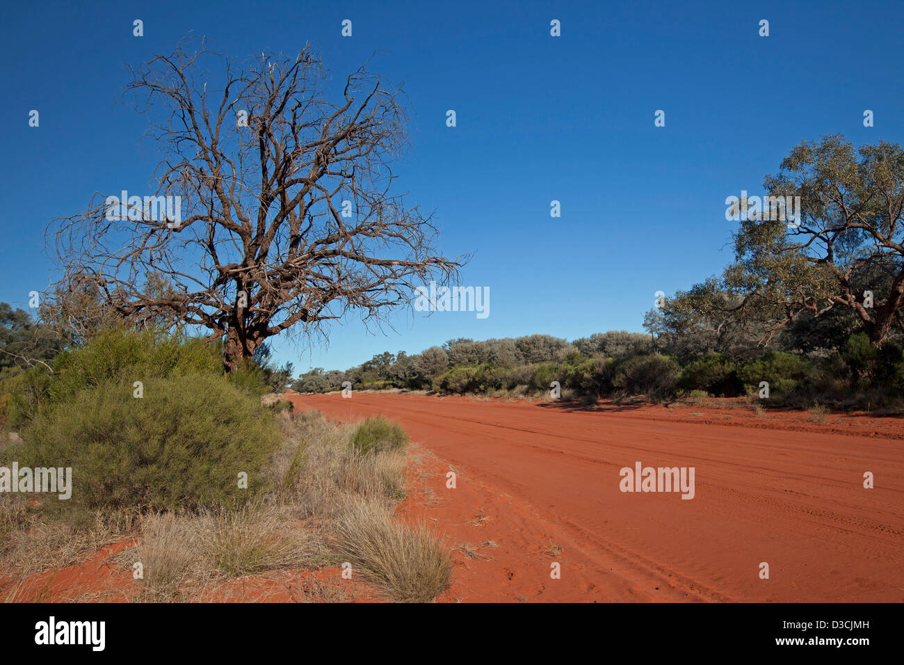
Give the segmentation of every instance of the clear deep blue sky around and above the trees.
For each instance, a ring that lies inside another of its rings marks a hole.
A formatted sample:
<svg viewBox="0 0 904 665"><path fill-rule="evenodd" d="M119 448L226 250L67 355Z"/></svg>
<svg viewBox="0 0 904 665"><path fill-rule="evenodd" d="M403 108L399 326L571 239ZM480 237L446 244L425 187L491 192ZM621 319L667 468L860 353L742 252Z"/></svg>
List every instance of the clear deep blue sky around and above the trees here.
<svg viewBox="0 0 904 665"><path fill-rule="evenodd" d="M10 3L0 300L27 307L47 287L52 218L83 211L96 191L146 187L155 158L138 143L145 120L117 104L123 64L194 33L242 57L309 41L336 77L373 56L372 71L403 81L411 150L399 187L436 211L445 253L476 252L461 283L490 288L489 318L402 314L384 333L350 321L328 348L276 341L280 361L299 372L452 337L639 331L656 290L686 289L730 260L725 198L761 193L797 142L904 142L902 25L901 2L824 0Z"/></svg>

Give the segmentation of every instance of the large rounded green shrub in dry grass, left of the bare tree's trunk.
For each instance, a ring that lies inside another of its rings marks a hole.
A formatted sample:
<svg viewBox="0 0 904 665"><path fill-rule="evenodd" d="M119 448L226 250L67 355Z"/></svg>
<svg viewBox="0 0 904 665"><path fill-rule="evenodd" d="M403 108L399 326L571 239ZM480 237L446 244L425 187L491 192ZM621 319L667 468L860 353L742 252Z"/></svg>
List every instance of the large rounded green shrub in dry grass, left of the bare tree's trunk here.
<svg viewBox="0 0 904 665"><path fill-rule="evenodd" d="M42 410L6 456L71 467L66 507L236 506L263 488L272 416L221 376L150 378L144 396L108 382ZM239 473L248 488L239 488Z"/></svg>

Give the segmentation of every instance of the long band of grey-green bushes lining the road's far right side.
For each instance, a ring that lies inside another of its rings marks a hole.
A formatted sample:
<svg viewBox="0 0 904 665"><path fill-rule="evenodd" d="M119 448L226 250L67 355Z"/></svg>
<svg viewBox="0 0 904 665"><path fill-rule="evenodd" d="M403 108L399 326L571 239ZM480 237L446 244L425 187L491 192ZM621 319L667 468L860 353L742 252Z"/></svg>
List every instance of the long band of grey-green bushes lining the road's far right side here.
<svg viewBox="0 0 904 665"><path fill-rule="evenodd" d="M344 372L315 369L293 384L299 393L410 390L493 397L544 397L552 382L565 401L758 397L763 407L904 411L904 352L892 336L880 348L862 332L839 330L831 347L797 347L800 329L761 348L716 350L698 337L609 331L569 342L532 335L452 339L419 355L384 353ZM826 340L827 342L829 340Z"/></svg>

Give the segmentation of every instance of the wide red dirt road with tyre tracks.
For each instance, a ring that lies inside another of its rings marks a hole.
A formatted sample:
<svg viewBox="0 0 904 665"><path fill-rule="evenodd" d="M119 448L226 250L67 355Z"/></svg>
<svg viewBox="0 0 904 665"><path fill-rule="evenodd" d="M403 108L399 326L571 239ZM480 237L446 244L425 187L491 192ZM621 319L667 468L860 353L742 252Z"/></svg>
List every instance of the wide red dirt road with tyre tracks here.
<svg viewBox="0 0 904 665"><path fill-rule="evenodd" d="M904 423L413 394L291 395L382 413L420 455L401 509L456 547L444 600L901 602ZM704 422L694 422L702 420ZM693 467L693 499L619 470ZM448 470L457 473L447 489ZM871 471L874 489L864 489ZM760 579L760 563L769 578ZM551 579L551 564L560 579Z"/></svg>

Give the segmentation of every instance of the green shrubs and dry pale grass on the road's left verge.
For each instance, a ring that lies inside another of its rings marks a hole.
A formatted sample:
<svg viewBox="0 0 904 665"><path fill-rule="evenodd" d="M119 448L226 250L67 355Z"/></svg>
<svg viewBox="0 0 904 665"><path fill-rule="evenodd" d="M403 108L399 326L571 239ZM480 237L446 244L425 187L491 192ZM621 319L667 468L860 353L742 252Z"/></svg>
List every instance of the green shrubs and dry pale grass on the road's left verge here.
<svg viewBox="0 0 904 665"><path fill-rule="evenodd" d="M0 492L0 598L35 600L21 595L27 575L129 537L116 558L127 573L141 564L135 600L346 562L392 600L449 584L441 540L394 517L408 443L397 423L293 416L266 366L226 375L217 345L153 330L105 329L8 374L0 467L72 476L71 499Z"/></svg>

